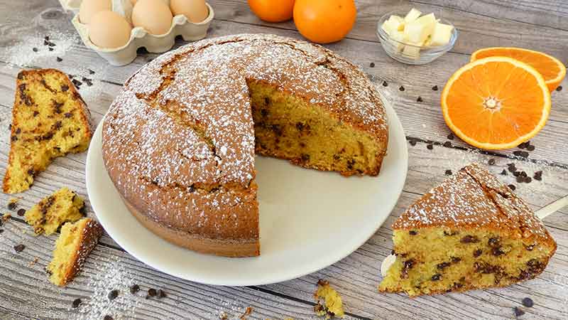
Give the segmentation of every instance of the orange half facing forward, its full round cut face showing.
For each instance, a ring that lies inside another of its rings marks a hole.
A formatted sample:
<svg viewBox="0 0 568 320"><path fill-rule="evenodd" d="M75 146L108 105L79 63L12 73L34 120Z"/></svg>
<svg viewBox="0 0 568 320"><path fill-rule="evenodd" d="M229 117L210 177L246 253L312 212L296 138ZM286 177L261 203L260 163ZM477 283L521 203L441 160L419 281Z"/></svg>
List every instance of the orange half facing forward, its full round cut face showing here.
<svg viewBox="0 0 568 320"><path fill-rule="evenodd" d="M509 149L544 127L550 91L527 63L483 58L449 78L442 92L442 112L448 127L464 142L481 149Z"/></svg>

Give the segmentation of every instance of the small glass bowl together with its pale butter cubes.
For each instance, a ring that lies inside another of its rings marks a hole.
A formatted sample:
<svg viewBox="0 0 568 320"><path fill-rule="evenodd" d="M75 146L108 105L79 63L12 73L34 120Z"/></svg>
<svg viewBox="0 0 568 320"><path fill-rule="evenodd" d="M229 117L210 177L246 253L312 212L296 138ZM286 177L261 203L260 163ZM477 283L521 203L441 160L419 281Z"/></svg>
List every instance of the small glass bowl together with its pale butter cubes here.
<svg viewBox="0 0 568 320"><path fill-rule="evenodd" d="M394 11L379 19L377 35L391 58L409 65L430 63L454 47L457 30L435 14Z"/></svg>

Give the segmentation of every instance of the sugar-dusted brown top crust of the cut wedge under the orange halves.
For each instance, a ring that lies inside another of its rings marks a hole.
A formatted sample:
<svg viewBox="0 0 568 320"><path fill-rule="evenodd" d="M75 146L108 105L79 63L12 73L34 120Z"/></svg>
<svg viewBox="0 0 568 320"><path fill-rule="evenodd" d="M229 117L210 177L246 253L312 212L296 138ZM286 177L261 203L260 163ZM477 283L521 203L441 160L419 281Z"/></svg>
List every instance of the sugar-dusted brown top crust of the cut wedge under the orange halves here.
<svg viewBox="0 0 568 320"><path fill-rule="evenodd" d="M528 204L479 164L465 166L432 188L393 223L393 230L428 227L501 230L556 248Z"/></svg>

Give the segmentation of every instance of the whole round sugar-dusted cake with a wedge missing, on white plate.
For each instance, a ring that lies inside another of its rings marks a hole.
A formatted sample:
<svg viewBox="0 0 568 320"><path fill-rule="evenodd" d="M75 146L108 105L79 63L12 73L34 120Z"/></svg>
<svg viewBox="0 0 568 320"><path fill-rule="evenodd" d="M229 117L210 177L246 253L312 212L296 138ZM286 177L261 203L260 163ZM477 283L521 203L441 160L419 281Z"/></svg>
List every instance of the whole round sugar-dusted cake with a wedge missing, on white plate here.
<svg viewBox="0 0 568 320"><path fill-rule="evenodd" d="M262 34L161 55L125 83L102 130L109 176L146 228L230 257L260 254L255 153L376 176L387 142L385 110L359 68Z"/></svg>

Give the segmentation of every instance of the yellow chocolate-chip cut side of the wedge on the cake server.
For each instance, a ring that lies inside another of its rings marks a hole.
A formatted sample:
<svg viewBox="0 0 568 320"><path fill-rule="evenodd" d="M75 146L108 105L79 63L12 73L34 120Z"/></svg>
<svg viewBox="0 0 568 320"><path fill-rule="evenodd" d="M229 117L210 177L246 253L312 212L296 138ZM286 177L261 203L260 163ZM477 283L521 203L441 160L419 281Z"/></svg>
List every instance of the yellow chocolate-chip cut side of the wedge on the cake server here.
<svg viewBox="0 0 568 320"><path fill-rule="evenodd" d="M403 291L411 297L532 279L545 270L555 250L534 240L484 229L395 230L393 239L396 261L380 289Z"/></svg>

